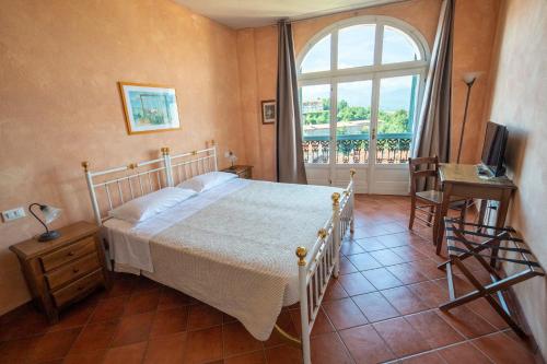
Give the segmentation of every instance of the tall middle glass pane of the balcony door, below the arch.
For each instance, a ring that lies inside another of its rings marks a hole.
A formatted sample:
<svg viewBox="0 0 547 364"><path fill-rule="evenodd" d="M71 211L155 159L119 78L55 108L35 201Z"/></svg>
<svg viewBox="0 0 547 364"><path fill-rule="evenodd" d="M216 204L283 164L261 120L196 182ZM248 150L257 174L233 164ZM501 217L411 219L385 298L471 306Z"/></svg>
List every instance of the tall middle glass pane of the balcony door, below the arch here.
<svg viewBox="0 0 547 364"><path fill-rule="evenodd" d="M368 163L372 81L338 83L336 163Z"/></svg>

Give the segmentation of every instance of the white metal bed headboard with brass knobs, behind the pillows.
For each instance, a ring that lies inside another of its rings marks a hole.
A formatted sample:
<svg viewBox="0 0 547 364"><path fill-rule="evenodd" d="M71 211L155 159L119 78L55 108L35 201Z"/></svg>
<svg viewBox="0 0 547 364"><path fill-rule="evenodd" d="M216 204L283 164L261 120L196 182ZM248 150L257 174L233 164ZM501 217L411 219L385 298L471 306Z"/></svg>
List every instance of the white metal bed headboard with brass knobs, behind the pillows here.
<svg viewBox="0 0 547 364"><path fill-rule="evenodd" d="M218 171L214 141L199 151L171 155L171 149L161 148L161 157L129 163L104 171L91 171L82 162L95 222L102 225L108 211L135 198L165 187L174 187L197 175Z"/></svg>

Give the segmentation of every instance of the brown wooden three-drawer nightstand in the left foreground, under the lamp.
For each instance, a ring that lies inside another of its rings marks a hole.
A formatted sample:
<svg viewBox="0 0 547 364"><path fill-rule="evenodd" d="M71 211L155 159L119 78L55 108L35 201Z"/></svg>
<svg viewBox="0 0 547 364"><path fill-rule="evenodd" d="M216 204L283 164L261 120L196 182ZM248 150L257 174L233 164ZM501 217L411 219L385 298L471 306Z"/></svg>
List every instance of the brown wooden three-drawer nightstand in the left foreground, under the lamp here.
<svg viewBox="0 0 547 364"><path fill-rule="evenodd" d="M12 245L34 303L57 322L59 310L108 286L106 260L98 227L78 222L59 228L61 236L39 243L32 238Z"/></svg>

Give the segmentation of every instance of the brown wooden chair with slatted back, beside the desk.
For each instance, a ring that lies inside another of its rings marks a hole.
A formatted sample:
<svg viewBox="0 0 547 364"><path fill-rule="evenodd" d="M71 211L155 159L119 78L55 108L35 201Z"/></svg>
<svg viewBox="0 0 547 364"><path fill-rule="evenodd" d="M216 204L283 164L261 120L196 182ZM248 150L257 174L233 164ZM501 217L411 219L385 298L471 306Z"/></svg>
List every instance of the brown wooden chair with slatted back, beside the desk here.
<svg viewBox="0 0 547 364"><path fill-rule="evenodd" d="M443 193L439 190L439 157L424 156L417 158L408 158L408 167L410 168L410 219L408 228L412 230L415 220L423 222L431 227L433 222L433 245L437 242L437 234L441 225L441 203ZM418 191L421 187L428 186L428 181L433 180L432 189ZM456 206L456 202L457 206ZM418 204L419 203L419 204ZM453 197L451 198L452 209L459 210L461 219L465 220L465 210L467 201ZM423 215L418 215L417 212ZM423 219L426 216L426 219Z"/></svg>

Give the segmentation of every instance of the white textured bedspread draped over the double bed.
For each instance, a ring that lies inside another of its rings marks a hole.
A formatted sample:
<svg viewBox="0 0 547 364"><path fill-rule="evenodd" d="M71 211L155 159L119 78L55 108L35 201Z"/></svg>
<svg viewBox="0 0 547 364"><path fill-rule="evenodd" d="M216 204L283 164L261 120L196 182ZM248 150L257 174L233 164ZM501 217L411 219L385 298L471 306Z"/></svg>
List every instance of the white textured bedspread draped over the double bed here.
<svg viewBox="0 0 547 364"><path fill-rule="evenodd" d="M331 215L334 191L341 190L247 181L141 236L153 262L146 275L237 318L266 340L283 304L299 301L294 250L312 248Z"/></svg>

